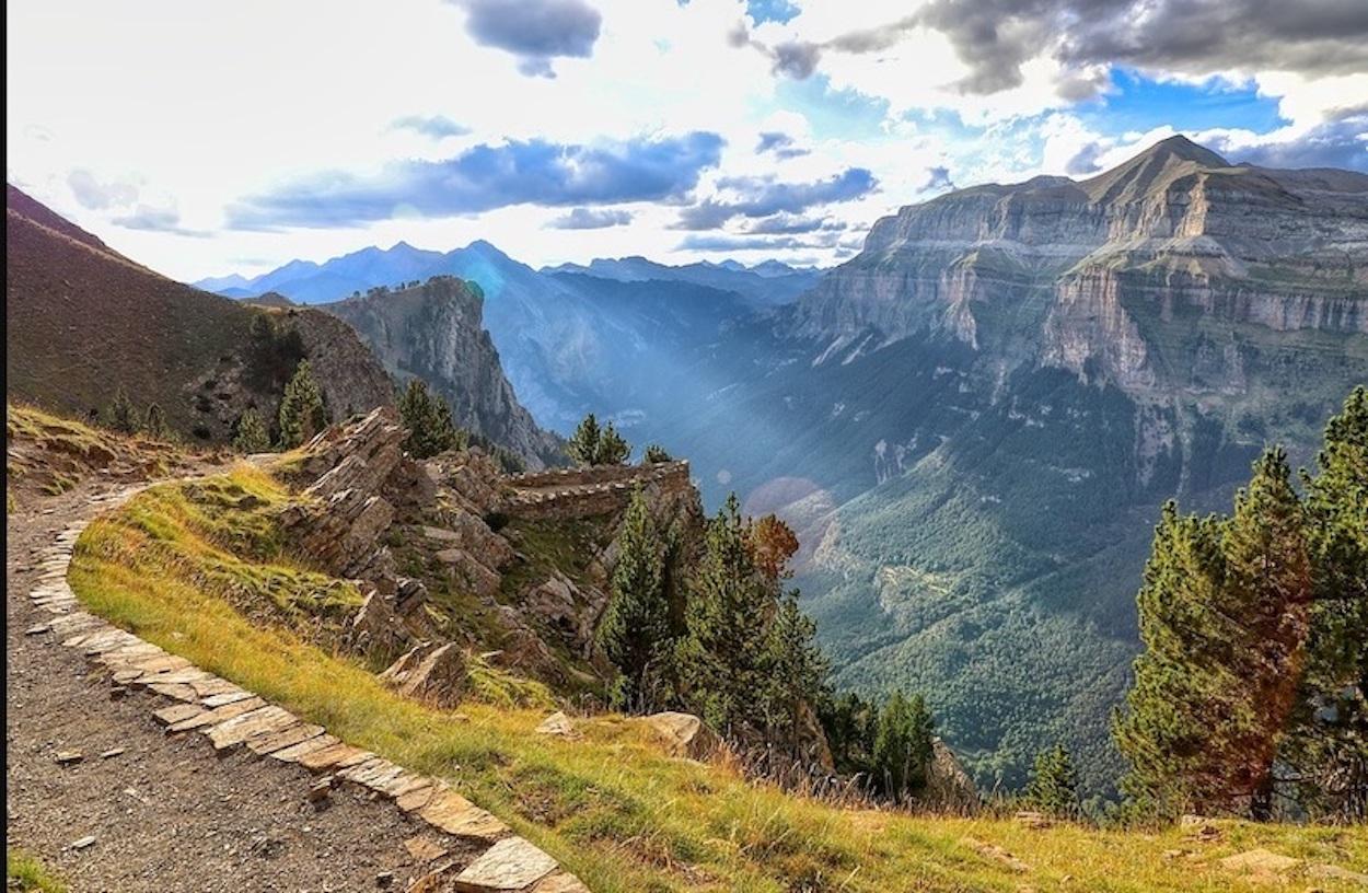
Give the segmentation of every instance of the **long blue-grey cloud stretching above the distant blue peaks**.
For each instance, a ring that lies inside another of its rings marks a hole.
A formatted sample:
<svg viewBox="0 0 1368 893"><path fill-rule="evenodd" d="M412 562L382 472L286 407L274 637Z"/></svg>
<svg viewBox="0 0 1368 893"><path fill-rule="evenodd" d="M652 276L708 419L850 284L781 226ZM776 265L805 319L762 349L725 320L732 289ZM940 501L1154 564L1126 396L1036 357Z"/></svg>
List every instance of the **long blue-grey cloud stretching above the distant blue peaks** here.
<svg viewBox="0 0 1368 893"><path fill-rule="evenodd" d="M450 217L510 205L679 200L717 167L722 138L695 131L599 145L544 139L477 145L440 161L405 160L373 175L328 171L227 209L237 230L341 227L395 216Z"/></svg>

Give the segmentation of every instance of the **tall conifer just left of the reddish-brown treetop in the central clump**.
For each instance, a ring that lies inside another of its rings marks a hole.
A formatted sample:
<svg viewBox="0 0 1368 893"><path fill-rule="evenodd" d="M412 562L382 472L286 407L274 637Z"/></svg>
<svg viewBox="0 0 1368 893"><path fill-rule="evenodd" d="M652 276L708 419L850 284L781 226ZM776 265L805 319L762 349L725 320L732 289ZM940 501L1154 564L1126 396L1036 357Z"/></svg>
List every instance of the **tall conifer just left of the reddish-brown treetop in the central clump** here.
<svg viewBox="0 0 1368 893"><path fill-rule="evenodd" d="M736 494L709 521L679 647L684 697L729 737L765 728L766 621L774 594L751 562Z"/></svg>

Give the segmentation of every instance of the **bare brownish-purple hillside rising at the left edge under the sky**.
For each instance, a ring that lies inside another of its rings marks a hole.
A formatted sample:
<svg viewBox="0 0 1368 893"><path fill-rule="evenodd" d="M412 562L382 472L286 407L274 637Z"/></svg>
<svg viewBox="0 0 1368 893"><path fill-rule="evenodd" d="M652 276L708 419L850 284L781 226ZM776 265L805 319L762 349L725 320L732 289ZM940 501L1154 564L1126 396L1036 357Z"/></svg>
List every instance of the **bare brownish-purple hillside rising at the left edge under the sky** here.
<svg viewBox="0 0 1368 893"><path fill-rule="evenodd" d="M172 282L7 189L5 377L14 399L92 417L124 390L140 410L157 403L172 428L207 442L231 438L244 409L274 414L283 379L316 360L334 414L390 403L379 364L319 312L282 317L302 351L263 362L254 312ZM289 368L276 368L276 361Z"/></svg>

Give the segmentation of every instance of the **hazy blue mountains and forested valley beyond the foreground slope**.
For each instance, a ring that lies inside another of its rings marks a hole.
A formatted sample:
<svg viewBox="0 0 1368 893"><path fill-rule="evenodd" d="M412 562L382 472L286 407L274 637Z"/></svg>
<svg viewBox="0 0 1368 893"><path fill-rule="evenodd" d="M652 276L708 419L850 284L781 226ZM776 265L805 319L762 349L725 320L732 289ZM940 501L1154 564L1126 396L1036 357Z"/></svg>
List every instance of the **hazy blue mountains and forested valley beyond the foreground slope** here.
<svg viewBox="0 0 1368 893"><path fill-rule="evenodd" d="M445 341L476 295L432 275L477 284L492 351ZM798 529L840 685L923 692L982 784L1060 743L1096 792L1160 506L1227 507L1267 443L1308 461L1368 382L1368 176L1172 138L908 205L826 272L399 243L202 284L324 304L458 406L497 353L540 425L688 457Z"/></svg>

